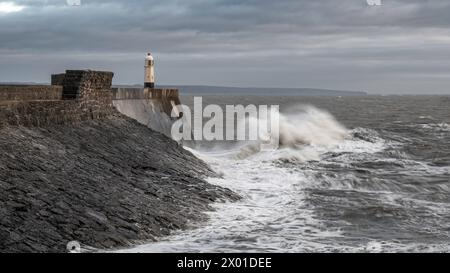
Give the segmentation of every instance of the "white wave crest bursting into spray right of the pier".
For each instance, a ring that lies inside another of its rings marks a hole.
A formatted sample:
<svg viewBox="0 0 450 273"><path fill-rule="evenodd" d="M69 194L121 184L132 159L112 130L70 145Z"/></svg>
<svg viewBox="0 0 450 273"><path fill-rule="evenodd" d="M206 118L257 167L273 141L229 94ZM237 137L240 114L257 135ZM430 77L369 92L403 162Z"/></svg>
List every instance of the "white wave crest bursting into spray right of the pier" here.
<svg viewBox="0 0 450 273"><path fill-rule="evenodd" d="M267 120L257 122L266 123ZM288 113L280 113L278 122L278 149L264 151L261 148L262 141L244 142L237 145L239 149L235 154L236 158L244 159L265 152L262 156L264 159L272 157L287 161L317 161L321 154L333 149L378 150L382 142L373 131L362 128L348 130L333 115L311 105L299 105L290 108Z"/></svg>

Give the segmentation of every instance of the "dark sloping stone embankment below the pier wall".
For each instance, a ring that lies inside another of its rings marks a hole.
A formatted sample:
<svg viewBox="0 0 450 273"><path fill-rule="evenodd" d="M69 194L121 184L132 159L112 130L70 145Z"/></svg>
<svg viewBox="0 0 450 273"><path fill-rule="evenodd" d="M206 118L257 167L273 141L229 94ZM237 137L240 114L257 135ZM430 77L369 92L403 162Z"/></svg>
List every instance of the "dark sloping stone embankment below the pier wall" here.
<svg viewBox="0 0 450 273"><path fill-rule="evenodd" d="M119 113L0 128L0 251L111 249L155 241L239 197L179 144Z"/></svg>

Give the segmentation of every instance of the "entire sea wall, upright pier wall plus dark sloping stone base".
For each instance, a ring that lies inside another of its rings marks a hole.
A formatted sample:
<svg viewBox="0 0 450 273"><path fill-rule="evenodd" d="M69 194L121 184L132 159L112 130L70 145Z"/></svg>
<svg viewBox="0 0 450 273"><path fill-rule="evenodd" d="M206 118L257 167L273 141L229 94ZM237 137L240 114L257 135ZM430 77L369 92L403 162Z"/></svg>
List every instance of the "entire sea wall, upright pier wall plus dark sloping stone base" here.
<svg viewBox="0 0 450 273"><path fill-rule="evenodd" d="M171 124L176 90L112 90L112 77L68 70L55 86L0 88L0 252L155 241L206 219L212 202L239 198L150 129Z"/></svg>

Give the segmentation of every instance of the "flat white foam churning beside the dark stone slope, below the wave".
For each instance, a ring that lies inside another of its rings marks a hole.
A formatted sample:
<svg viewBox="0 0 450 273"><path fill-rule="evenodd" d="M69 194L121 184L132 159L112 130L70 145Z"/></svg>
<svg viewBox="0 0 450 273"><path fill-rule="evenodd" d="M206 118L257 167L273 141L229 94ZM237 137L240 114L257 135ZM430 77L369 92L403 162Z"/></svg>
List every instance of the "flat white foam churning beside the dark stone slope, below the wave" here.
<svg viewBox="0 0 450 273"><path fill-rule="evenodd" d="M308 181L301 173L274 167L259 160L263 158L259 155L236 160L230 158L230 151L191 151L224 174L208 182L239 193L243 200L215 204L206 225L125 251L306 251L325 247L317 243L318 238L340 236L339 230L325 228L304 205L302 189Z"/></svg>

